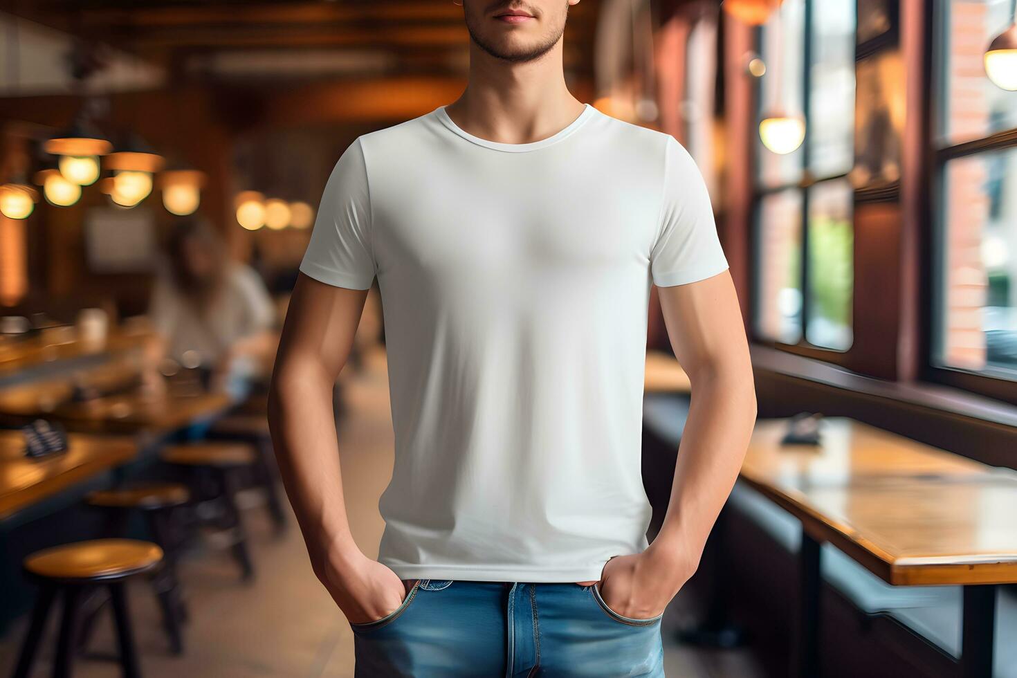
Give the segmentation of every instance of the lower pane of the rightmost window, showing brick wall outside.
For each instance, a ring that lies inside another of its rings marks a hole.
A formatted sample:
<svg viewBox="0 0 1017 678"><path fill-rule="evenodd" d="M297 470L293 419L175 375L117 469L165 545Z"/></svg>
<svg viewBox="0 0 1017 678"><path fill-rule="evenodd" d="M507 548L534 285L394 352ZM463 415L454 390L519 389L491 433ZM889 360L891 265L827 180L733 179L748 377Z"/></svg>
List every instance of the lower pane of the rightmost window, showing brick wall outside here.
<svg viewBox="0 0 1017 678"><path fill-rule="evenodd" d="M941 365L1017 379L1017 148L945 168Z"/></svg>

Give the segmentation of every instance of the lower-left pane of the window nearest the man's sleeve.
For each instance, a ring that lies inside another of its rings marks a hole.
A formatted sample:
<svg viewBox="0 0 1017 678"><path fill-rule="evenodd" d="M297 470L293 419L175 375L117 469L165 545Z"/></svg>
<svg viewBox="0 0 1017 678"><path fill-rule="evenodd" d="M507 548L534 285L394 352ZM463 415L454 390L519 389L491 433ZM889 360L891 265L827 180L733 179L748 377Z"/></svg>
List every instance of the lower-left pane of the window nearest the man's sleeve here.
<svg viewBox="0 0 1017 678"><path fill-rule="evenodd" d="M787 189L760 200L756 251L756 328L785 344L801 338L801 191Z"/></svg>

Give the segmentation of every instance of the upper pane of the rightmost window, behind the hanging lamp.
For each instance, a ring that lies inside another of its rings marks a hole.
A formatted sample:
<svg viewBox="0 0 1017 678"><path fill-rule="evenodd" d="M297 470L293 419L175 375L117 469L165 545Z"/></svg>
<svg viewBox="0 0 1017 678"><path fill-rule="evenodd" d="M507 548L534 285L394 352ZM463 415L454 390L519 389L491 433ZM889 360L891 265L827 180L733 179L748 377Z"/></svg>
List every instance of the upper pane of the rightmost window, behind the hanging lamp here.
<svg viewBox="0 0 1017 678"><path fill-rule="evenodd" d="M943 120L940 133L951 143L1017 127L1017 91L1006 91L985 76L989 43L1011 21L1011 0L944 2L940 34Z"/></svg>

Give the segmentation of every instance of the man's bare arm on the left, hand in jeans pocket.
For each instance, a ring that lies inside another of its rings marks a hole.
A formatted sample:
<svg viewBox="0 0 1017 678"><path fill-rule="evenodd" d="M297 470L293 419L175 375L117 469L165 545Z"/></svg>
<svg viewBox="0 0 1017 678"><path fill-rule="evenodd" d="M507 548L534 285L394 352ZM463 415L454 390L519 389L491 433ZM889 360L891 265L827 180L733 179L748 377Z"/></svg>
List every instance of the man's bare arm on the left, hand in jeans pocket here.
<svg viewBox="0 0 1017 678"><path fill-rule="evenodd" d="M366 297L367 290L333 287L301 273L268 392L276 457L314 573L354 623L384 616L406 594L399 576L353 541L343 496L333 386Z"/></svg>

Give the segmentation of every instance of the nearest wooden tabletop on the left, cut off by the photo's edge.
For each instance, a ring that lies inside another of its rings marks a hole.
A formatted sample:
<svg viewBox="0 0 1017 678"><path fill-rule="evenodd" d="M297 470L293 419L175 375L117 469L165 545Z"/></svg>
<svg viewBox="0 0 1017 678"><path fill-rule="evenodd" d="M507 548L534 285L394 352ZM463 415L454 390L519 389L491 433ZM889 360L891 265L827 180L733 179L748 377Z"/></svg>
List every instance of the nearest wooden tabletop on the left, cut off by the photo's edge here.
<svg viewBox="0 0 1017 678"><path fill-rule="evenodd" d="M68 434L66 452L31 458L19 431L0 431L0 520L137 455L125 436Z"/></svg>

